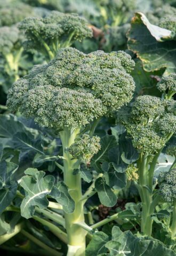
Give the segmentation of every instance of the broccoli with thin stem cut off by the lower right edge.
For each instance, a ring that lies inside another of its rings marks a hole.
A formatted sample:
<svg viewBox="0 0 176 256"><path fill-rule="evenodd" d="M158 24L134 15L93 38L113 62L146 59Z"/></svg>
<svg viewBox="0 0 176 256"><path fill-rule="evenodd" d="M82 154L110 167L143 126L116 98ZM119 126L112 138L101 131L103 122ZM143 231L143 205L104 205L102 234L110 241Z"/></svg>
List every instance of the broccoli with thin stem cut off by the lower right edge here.
<svg viewBox="0 0 176 256"><path fill-rule="evenodd" d="M159 194L166 202L173 203L173 217L170 226L171 238L176 235L176 169L161 172L158 177Z"/></svg>

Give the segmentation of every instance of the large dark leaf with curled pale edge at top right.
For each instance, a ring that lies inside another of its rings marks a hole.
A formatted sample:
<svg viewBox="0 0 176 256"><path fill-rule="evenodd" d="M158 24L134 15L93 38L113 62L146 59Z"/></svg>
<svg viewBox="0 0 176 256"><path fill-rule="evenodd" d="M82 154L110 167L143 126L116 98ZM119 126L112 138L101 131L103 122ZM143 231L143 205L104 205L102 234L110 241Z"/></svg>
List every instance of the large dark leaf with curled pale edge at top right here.
<svg viewBox="0 0 176 256"><path fill-rule="evenodd" d="M141 59L146 71L176 71L176 43L170 30L154 26L144 14L136 13L128 37L129 49Z"/></svg>

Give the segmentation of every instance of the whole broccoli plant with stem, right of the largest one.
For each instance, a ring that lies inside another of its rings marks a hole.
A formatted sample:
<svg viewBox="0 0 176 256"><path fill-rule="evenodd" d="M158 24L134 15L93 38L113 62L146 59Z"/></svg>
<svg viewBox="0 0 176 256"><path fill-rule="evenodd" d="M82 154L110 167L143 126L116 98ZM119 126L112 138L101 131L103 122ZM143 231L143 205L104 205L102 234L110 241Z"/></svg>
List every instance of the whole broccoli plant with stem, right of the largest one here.
<svg viewBox="0 0 176 256"><path fill-rule="evenodd" d="M157 84L158 90L163 92L162 98L139 96L135 99L131 111L126 115L122 112L123 115L118 117L126 126L133 147L140 154L136 164L139 179L133 180L142 202L141 232L148 236L151 236L152 232L152 215L161 200L161 193L155 189L155 167L163 148L176 131L175 101L172 98L176 92L175 85L175 74L163 77ZM169 151L174 154L174 147ZM172 167L174 166L175 162Z"/></svg>

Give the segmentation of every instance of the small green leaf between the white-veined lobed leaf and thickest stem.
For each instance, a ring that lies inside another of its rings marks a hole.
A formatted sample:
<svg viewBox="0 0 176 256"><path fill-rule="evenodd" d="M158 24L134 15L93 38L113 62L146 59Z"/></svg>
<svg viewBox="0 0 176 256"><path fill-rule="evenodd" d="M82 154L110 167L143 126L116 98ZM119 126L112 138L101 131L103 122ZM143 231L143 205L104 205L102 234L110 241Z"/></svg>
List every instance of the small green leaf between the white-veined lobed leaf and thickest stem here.
<svg viewBox="0 0 176 256"><path fill-rule="evenodd" d="M68 193L68 187L63 181L59 181L53 186L50 196L63 206L63 211L71 213L75 210L75 202Z"/></svg>

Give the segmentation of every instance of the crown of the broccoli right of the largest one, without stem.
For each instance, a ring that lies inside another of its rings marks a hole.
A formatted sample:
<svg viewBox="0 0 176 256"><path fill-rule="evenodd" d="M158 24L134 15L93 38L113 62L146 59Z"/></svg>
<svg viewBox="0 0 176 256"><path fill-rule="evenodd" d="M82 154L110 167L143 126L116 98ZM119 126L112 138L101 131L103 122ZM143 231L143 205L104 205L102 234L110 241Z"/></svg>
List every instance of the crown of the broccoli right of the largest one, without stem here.
<svg viewBox="0 0 176 256"><path fill-rule="evenodd" d="M167 135L176 131L173 99L142 95L125 115L123 108L118 111L117 119L126 126L133 146L139 152L154 153L164 147Z"/></svg>

